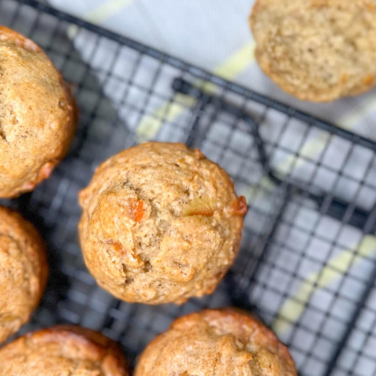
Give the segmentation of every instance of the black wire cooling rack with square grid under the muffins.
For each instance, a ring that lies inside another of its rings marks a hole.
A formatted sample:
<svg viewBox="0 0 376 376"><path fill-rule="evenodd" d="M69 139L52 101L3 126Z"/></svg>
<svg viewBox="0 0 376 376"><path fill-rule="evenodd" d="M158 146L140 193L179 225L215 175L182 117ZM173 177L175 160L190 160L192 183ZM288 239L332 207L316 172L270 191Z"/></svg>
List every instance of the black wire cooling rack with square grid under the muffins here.
<svg viewBox="0 0 376 376"><path fill-rule="evenodd" d="M21 333L81 324L135 357L188 312L255 312L302 375L376 374L376 143L33 0L0 23L35 40L71 83L79 129L31 194L3 205L41 230L50 277ZM77 193L108 156L146 139L199 147L231 175L249 213L240 255L214 294L183 306L114 299L88 274Z"/></svg>

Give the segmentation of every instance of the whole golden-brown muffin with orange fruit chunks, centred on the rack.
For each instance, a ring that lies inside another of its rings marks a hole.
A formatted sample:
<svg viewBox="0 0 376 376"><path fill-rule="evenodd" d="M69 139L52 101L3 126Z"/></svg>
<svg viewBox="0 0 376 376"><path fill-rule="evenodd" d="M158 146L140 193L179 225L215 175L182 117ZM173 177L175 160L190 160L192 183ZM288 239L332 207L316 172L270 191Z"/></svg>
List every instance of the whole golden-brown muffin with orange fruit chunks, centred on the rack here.
<svg viewBox="0 0 376 376"><path fill-rule="evenodd" d="M247 211L225 171L172 143L112 156L79 201L92 275L119 299L149 304L212 293L237 255Z"/></svg>

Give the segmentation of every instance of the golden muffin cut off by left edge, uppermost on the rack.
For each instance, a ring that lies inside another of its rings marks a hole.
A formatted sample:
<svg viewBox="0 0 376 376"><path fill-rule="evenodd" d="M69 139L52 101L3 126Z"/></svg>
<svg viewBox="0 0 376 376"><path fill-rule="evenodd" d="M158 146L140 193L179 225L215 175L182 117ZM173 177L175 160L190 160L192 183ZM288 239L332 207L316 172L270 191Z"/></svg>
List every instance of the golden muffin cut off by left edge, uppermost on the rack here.
<svg viewBox="0 0 376 376"><path fill-rule="evenodd" d="M0 197L31 191L68 150L76 111L50 59L0 26Z"/></svg>

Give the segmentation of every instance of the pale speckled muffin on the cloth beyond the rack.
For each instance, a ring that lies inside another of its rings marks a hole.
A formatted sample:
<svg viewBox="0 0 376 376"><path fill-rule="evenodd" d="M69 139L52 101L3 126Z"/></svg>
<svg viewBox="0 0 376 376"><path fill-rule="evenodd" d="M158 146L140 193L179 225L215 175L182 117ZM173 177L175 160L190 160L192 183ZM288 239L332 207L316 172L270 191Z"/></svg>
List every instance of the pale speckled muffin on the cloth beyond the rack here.
<svg viewBox="0 0 376 376"><path fill-rule="evenodd" d="M302 100L376 84L375 0L256 0L250 25L261 69Z"/></svg>

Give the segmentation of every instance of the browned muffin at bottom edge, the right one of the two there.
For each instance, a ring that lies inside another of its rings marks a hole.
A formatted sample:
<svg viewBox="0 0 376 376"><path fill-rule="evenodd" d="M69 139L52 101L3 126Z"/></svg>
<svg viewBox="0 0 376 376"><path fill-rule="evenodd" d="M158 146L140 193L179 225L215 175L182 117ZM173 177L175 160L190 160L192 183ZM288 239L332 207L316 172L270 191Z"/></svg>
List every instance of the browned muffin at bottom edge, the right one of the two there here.
<svg viewBox="0 0 376 376"><path fill-rule="evenodd" d="M296 376L287 347L245 312L206 309L175 320L141 354L135 376Z"/></svg>

